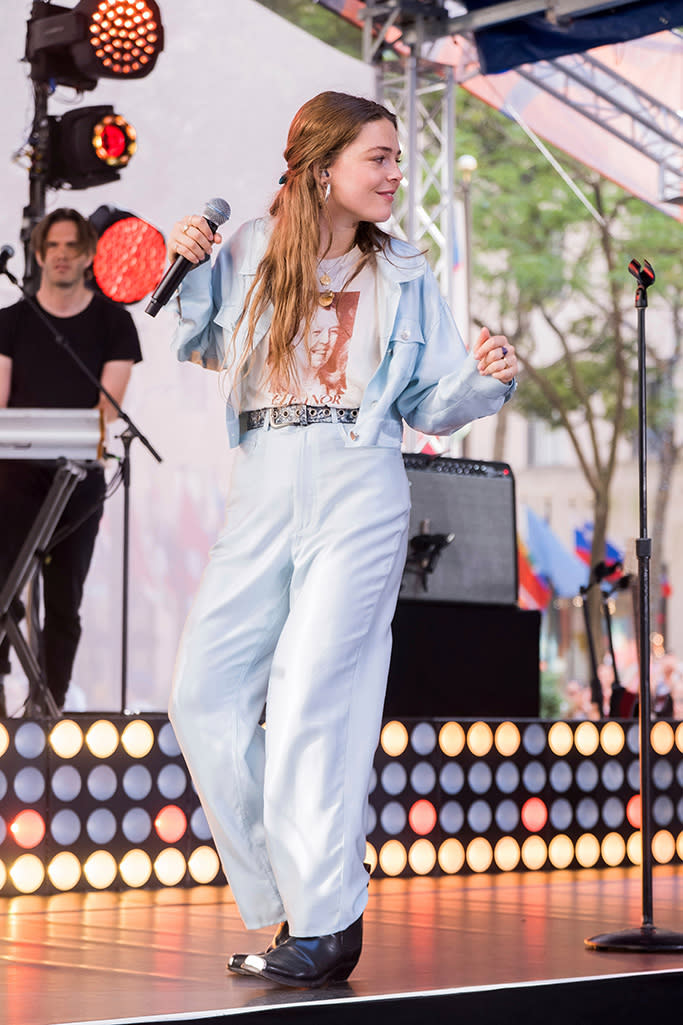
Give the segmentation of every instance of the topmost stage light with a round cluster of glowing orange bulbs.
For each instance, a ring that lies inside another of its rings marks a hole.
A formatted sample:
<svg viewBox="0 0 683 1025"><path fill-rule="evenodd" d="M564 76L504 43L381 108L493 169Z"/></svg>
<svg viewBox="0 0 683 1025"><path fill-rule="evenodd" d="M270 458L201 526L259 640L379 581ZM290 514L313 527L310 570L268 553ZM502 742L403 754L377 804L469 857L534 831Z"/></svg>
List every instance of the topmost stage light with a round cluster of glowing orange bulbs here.
<svg viewBox="0 0 683 1025"><path fill-rule="evenodd" d="M94 89L101 78L144 78L164 46L155 0L34 3L26 58L34 81Z"/></svg>

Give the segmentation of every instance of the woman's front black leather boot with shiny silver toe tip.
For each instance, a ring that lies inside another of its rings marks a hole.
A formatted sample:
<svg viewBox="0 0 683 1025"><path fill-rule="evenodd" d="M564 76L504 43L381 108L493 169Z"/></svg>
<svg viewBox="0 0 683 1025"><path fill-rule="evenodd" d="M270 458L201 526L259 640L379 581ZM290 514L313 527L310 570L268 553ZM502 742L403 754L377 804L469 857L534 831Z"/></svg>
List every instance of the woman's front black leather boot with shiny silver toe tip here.
<svg viewBox="0 0 683 1025"><path fill-rule="evenodd" d="M273 950L247 954L242 974L281 986L315 989L345 982L358 963L363 945L363 916L347 929L327 936L290 936Z"/></svg>

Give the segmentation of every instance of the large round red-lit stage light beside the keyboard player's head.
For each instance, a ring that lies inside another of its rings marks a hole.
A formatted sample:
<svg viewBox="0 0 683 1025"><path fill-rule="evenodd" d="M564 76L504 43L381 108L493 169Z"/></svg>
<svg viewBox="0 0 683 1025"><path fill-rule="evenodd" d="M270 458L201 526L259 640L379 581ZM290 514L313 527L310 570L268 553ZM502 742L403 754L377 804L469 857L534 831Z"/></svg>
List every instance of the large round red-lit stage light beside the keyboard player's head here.
<svg viewBox="0 0 683 1025"><path fill-rule="evenodd" d="M115 302L139 302L163 275L163 235L134 213L112 206L97 207L89 219L98 235L92 263L96 288Z"/></svg>

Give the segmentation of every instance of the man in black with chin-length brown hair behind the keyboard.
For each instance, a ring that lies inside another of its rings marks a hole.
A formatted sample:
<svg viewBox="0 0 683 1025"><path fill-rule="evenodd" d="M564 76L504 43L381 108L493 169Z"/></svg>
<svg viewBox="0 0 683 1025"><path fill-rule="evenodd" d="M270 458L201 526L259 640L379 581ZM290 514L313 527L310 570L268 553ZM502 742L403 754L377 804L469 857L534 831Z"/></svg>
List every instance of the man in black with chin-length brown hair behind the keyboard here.
<svg viewBox="0 0 683 1025"><path fill-rule="evenodd" d="M59 208L34 229L31 244L41 270L36 299L97 380L123 403L133 364L142 360L130 314L88 285L97 236L76 210ZM0 310L0 408L88 409L106 420L114 407L55 341L26 299ZM0 576L9 572L54 476L54 463L0 460ZM62 515L54 545L41 566L45 618L43 668L64 707L81 634L80 605L104 508L105 474L93 464ZM63 528L73 528L64 536ZM14 608L15 615L23 610ZM0 715L6 714L2 676L10 669L7 639L0 645Z"/></svg>

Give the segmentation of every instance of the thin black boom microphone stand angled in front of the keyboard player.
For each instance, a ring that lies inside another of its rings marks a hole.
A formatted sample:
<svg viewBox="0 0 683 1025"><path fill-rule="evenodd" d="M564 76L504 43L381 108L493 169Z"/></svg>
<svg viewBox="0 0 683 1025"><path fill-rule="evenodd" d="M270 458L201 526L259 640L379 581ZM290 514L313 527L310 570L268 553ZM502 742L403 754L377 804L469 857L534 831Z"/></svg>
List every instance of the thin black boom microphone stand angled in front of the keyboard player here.
<svg viewBox="0 0 683 1025"><path fill-rule="evenodd" d="M129 461L129 449L132 441L137 438L145 448L151 453L151 455L161 462L161 456L154 449L145 435L138 429L138 427L133 423L131 418L126 412L121 408L119 403L116 401L113 395L103 387L102 383L97 380L95 375L92 373L90 368L83 363L80 356L74 352L74 350L69 344L68 338L63 335L52 324L48 317L43 313L40 304L34 298L34 296L29 292L27 288L19 284L13 274L7 270L7 258L11 253L7 254L4 261L0 258L0 274L4 274L18 290L22 292L24 298L27 300L31 309L34 311L37 317L43 322L43 324L48 328L50 334L52 335L54 341L57 345L68 353L69 357L76 364L77 367L85 374L87 379L91 384L94 384L98 392L101 392L106 399L111 402L114 409L117 411L121 419L126 424L126 429L121 435L124 446L124 457L123 457L123 494L124 494L124 523L123 523L123 590L122 590L122 608L121 608L121 713L126 711L127 703L127 665L128 665L128 536L129 536L129 498L128 489L130 486L130 461Z"/></svg>

